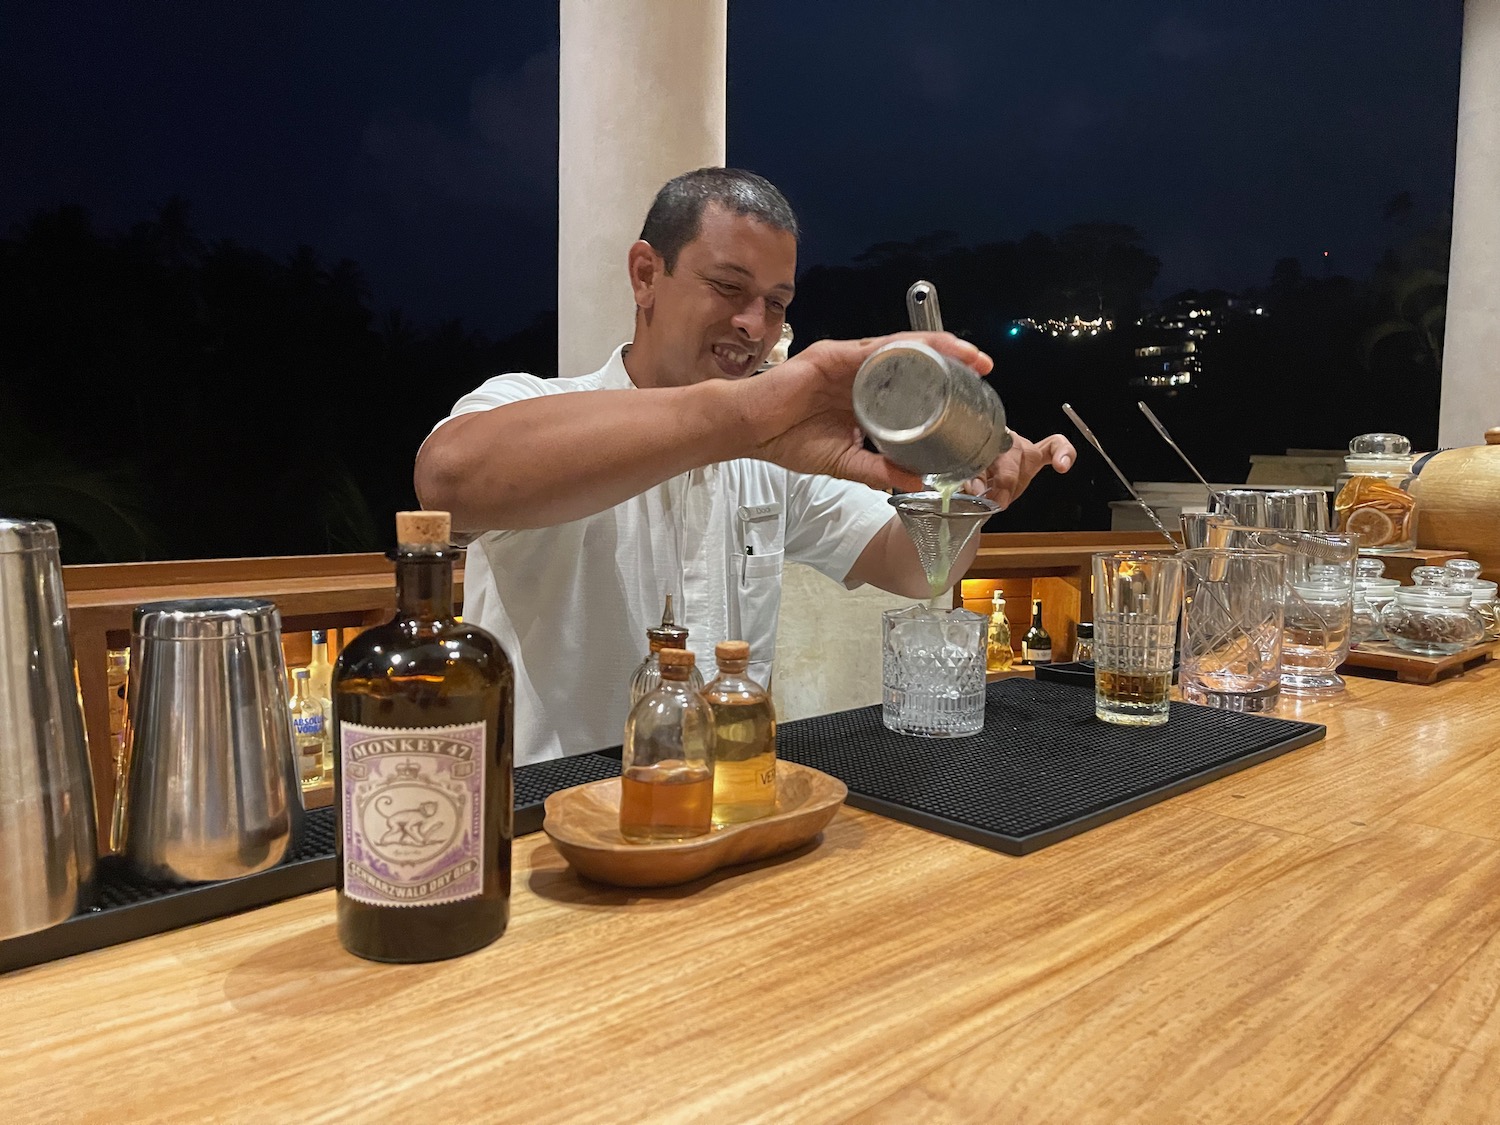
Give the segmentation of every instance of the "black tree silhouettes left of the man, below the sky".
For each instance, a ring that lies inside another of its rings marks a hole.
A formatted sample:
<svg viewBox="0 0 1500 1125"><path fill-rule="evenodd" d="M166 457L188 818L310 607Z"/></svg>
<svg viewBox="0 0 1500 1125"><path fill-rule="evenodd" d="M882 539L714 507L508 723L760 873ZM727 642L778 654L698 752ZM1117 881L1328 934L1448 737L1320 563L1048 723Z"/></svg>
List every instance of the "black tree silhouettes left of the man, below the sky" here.
<svg viewBox="0 0 1500 1125"><path fill-rule="evenodd" d="M555 366L546 321L378 318L356 262L204 244L182 200L118 237L38 214L0 308L0 510L57 520L69 562L375 549L453 400Z"/></svg>

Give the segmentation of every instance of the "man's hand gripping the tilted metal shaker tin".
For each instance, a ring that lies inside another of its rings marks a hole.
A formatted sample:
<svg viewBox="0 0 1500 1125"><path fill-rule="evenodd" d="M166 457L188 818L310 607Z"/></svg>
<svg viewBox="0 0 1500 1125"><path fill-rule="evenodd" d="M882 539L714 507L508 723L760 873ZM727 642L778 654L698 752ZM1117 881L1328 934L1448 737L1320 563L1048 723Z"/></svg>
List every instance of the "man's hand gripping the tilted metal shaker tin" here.
<svg viewBox="0 0 1500 1125"><path fill-rule="evenodd" d="M994 366L976 346L946 332L819 340L786 363L734 384L741 417L754 441L746 456L878 489L921 489L921 477L864 448L864 434L854 416L854 376L860 364L876 348L900 339L927 344L978 375L987 375Z"/></svg>

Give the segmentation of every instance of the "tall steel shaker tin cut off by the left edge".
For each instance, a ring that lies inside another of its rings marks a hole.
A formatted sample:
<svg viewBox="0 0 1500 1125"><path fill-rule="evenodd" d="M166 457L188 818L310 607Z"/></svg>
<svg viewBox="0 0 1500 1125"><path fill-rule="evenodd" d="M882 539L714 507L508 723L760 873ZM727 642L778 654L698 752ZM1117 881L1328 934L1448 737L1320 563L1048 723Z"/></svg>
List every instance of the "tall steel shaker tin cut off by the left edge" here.
<svg viewBox="0 0 1500 1125"><path fill-rule="evenodd" d="M0 518L0 939L87 904L94 840L57 528Z"/></svg>

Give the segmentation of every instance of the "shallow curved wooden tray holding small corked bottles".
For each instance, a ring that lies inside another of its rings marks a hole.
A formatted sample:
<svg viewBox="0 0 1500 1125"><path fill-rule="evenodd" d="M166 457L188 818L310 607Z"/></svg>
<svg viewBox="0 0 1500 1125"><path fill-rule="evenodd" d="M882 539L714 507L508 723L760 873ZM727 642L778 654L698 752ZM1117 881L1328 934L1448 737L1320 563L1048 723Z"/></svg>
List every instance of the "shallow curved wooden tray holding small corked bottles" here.
<svg viewBox="0 0 1500 1125"><path fill-rule="evenodd" d="M615 886L672 886L732 864L789 852L834 819L849 788L795 762L776 764L776 812L669 843L630 843L620 834L620 778L552 794L542 830L573 870Z"/></svg>

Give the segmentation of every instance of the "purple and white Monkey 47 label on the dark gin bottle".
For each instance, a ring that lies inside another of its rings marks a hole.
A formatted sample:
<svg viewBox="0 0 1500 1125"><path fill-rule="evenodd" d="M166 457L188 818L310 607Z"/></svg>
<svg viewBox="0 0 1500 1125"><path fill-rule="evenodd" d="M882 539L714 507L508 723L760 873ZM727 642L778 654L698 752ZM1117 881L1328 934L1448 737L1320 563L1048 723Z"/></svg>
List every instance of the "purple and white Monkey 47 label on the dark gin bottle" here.
<svg viewBox="0 0 1500 1125"><path fill-rule="evenodd" d="M484 723L344 723L344 892L435 906L484 886Z"/></svg>

